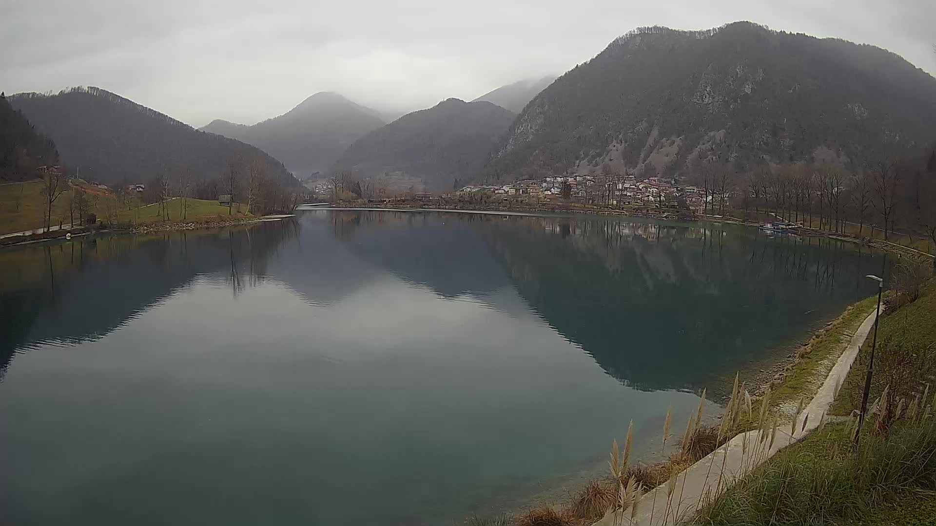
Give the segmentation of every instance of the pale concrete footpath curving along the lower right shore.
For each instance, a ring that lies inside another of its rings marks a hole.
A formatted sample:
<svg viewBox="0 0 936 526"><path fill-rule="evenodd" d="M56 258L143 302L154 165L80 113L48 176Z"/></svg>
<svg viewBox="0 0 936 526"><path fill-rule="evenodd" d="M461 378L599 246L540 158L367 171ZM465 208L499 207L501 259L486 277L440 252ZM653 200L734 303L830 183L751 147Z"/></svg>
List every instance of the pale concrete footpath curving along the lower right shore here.
<svg viewBox="0 0 936 526"><path fill-rule="evenodd" d="M797 419L796 430L790 434L790 422L781 425L777 429L777 435L772 447L767 449L767 441L759 444L758 431L748 431L732 438L724 446L719 447L709 454L708 457L699 460L689 469L683 471L676 479L675 490L673 491L672 502L669 504L669 512L666 511L666 484L652 489L640 500L637 506L637 513L634 521L630 520L631 512L627 510L623 514L623 519L619 518L619 524L649 526L651 524L651 507L653 515L653 524L676 524L680 519L689 519L695 511L696 504L700 499L703 503L707 502L719 490L730 486L739 477L747 475L754 468L768 460L777 451L783 447L793 444L797 440L806 436L819 426L820 417L828 412L832 401L837 394L836 387L841 386L845 381L845 376L855 362L858 355L858 349L865 342L868 333L874 326L874 315L871 313L861 323L861 326L852 336L848 347L836 361L832 370L826 376L826 381L816 392L812 402L803 409ZM802 422L806 420L805 429ZM769 433L769 431L768 431ZM747 441L747 447L744 442ZM743 452L746 449L746 452ZM719 484L719 474L723 473L721 484ZM709 472L709 466L710 472ZM683 483L685 488L683 489ZM656 505L652 506L653 493L656 493ZM702 504L698 504L702 505ZM664 521L664 517L667 519ZM611 526L615 524L611 514L607 514L604 519L595 523L595 526Z"/></svg>

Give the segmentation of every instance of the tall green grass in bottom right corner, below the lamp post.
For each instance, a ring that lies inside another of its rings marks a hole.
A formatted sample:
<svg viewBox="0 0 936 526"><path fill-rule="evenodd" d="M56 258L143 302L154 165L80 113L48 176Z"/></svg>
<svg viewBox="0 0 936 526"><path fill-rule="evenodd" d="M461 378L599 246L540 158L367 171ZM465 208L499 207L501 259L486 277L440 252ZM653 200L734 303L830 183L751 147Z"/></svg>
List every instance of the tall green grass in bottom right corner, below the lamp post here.
<svg viewBox="0 0 936 526"><path fill-rule="evenodd" d="M932 524L936 419L904 412L871 423L857 449L851 422L828 424L727 489L694 524ZM899 522L897 522L899 521Z"/></svg>

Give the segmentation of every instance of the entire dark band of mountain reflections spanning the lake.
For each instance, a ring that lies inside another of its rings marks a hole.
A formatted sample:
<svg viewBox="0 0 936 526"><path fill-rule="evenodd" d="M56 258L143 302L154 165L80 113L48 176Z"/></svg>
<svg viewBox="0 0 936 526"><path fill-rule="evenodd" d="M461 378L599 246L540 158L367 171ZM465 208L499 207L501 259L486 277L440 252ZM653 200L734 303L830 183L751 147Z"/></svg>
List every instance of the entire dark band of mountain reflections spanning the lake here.
<svg viewBox="0 0 936 526"><path fill-rule="evenodd" d="M328 305L389 271L443 298L529 307L636 387L698 386L869 295L860 276L879 264L835 241L595 217L315 211L221 232L98 236L0 253L0 375L16 349L103 336L200 274L235 296L275 279Z"/></svg>

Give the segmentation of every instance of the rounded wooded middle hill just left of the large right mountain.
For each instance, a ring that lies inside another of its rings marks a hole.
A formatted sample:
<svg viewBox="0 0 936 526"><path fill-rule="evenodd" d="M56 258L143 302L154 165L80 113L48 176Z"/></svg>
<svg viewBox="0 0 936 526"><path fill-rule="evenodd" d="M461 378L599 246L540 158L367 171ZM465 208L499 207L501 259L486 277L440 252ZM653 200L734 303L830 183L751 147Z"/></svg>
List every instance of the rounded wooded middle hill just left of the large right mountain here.
<svg viewBox="0 0 936 526"><path fill-rule="evenodd" d="M514 117L490 102L449 98L358 139L333 170L351 170L358 177L400 174L447 191L456 179L475 177Z"/></svg>

